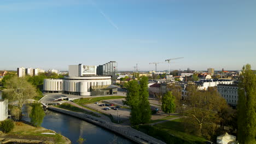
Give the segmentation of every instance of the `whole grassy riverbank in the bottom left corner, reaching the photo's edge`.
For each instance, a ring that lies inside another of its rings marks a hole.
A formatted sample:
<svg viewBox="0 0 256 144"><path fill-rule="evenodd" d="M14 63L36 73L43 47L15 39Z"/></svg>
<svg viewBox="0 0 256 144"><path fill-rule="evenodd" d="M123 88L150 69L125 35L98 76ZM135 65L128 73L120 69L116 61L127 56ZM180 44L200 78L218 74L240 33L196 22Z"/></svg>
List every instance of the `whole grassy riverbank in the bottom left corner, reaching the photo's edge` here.
<svg viewBox="0 0 256 144"><path fill-rule="evenodd" d="M43 127L33 127L27 122L14 122L14 129L8 134L0 131L0 142L19 142L19 143L65 143L70 144L71 141L67 137L56 133L53 130ZM48 135L42 133L53 133Z"/></svg>

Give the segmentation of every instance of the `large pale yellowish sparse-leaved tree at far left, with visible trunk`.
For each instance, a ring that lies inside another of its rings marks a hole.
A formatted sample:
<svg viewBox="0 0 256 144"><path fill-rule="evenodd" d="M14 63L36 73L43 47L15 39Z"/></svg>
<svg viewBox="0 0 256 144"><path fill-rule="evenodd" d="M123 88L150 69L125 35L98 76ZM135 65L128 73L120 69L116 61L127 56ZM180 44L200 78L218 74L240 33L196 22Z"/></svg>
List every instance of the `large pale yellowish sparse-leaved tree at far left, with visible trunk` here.
<svg viewBox="0 0 256 144"><path fill-rule="evenodd" d="M26 100L32 99L37 95L36 88L32 86L25 77L17 76L11 77L11 79L6 81L4 87L7 88L4 91L5 97L10 101L18 102L20 109L19 119L21 119L22 106L26 103Z"/></svg>

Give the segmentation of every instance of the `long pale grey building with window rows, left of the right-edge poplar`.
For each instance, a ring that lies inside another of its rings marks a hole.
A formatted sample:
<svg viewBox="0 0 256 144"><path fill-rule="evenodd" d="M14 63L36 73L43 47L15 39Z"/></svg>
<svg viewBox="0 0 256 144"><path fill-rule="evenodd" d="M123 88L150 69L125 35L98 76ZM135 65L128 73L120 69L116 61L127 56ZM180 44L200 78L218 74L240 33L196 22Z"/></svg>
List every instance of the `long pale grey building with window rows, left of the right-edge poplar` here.
<svg viewBox="0 0 256 144"><path fill-rule="evenodd" d="M238 86L236 84L225 85L219 84L217 86L218 92L226 100L226 103L232 106L237 105L238 101Z"/></svg>

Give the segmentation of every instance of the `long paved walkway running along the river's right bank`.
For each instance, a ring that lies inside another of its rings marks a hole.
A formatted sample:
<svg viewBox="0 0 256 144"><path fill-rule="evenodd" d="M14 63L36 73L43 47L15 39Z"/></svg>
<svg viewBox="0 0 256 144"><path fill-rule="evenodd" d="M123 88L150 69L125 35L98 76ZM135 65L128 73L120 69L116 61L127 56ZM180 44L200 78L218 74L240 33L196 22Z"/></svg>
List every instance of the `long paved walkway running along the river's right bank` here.
<svg viewBox="0 0 256 144"><path fill-rule="evenodd" d="M144 134L141 131L133 129L130 126L124 126L121 124L106 122L106 121L104 121L104 119L101 119L101 118L86 115L85 113L79 113L79 112L73 112L73 111L69 111L69 110L65 110L65 109L60 109L59 107L48 106L48 109L57 111L57 112L61 112L61 113L65 113L67 115L78 117L78 118L84 119L85 121L100 125L103 128L112 130L115 133L123 135L123 136L127 137L127 139L130 139L137 143L150 143L150 144L157 144L157 143L164 144L165 143L158 139L155 139L152 136Z"/></svg>

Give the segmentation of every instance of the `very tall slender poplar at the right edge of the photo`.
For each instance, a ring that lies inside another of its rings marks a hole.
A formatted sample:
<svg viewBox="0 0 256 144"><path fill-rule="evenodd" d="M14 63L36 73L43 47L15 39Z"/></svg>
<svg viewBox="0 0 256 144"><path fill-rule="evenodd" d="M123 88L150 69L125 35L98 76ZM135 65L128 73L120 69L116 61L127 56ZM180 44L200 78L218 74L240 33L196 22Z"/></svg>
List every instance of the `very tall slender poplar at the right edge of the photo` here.
<svg viewBox="0 0 256 144"><path fill-rule="evenodd" d="M247 64L238 83L237 138L240 143L256 143L256 76Z"/></svg>

